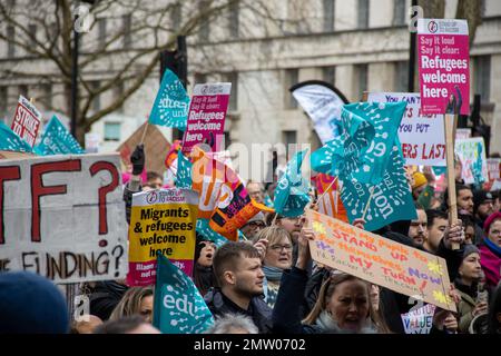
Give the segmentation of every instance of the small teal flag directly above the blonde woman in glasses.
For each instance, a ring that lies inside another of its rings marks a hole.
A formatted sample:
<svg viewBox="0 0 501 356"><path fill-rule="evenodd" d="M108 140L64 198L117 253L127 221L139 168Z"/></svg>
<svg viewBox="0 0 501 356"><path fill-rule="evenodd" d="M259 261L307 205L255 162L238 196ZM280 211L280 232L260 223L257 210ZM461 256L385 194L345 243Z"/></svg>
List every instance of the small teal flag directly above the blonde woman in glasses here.
<svg viewBox="0 0 501 356"><path fill-rule="evenodd" d="M278 180L273 206L275 211L286 217L299 216L310 202L308 185L301 175L306 149L298 151L288 161L285 174Z"/></svg>

